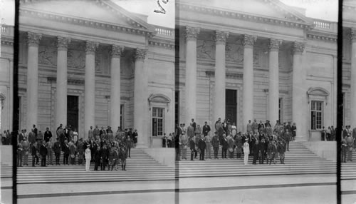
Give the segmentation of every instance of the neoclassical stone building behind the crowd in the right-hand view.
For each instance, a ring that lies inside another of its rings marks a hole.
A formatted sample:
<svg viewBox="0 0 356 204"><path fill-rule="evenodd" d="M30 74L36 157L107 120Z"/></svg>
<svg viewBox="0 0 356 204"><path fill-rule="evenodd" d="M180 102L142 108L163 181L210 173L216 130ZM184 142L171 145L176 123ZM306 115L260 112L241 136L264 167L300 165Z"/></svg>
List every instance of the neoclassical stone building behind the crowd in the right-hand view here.
<svg viewBox="0 0 356 204"><path fill-rule="evenodd" d="M336 125L337 23L280 1L177 4L179 121L291 121L300 141Z"/></svg>

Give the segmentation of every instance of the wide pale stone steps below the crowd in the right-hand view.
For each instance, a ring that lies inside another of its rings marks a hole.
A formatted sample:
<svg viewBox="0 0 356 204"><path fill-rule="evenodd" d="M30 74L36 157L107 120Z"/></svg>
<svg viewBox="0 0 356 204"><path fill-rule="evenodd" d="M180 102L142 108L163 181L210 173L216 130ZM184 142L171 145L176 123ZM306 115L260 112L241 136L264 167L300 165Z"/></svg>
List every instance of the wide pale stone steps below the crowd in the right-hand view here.
<svg viewBox="0 0 356 204"><path fill-rule="evenodd" d="M244 165L243 155L241 158L221 159L221 147L219 148L219 159L214 159L214 151L211 148L211 158L190 160L190 150L187 151L187 160L179 161L179 177L215 177L215 176L244 176L244 175L290 175L290 174L320 174L330 173L336 175L336 162L320 158L300 142L290 142L289 151L286 152L284 163L279 158L276 164L252 165L253 158L250 156L248 165ZM355 160L356 161L356 160Z"/></svg>

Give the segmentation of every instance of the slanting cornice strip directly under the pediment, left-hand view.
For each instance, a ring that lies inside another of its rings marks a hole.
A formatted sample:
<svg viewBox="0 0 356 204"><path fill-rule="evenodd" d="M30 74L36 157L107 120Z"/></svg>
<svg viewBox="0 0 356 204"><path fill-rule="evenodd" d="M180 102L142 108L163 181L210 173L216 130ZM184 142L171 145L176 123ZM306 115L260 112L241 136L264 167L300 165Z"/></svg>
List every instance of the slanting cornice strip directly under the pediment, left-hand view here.
<svg viewBox="0 0 356 204"><path fill-rule="evenodd" d="M64 16L60 14L52 14L49 12L36 11L31 9L20 9L20 16L31 16L33 18L47 19L50 21L57 21L57 22L79 25L79 26L87 26L87 27L92 27L94 29L120 31L120 32L125 32L127 34L136 34L141 36L152 37L155 36L156 34L156 32L144 28L142 29L142 27L135 28L129 26L122 26L118 24L109 24L107 22L93 21L92 19L83 19L83 18L78 18L73 16Z"/></svg>

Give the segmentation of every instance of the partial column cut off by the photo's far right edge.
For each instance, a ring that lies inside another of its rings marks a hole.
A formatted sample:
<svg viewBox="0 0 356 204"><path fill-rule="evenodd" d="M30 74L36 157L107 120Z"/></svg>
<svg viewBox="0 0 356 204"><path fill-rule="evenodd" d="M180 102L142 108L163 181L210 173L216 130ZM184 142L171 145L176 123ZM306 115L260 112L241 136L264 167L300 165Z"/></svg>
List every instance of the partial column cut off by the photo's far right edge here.
<svg viewBox="0 0 356 204"><path fill-rule="evenodd" d="M351 29L351 86L350 86L350 93L351 93L351 106L350 106L350 115L351 121L350 126L351 128L356 128L356 28Z"/></svg>

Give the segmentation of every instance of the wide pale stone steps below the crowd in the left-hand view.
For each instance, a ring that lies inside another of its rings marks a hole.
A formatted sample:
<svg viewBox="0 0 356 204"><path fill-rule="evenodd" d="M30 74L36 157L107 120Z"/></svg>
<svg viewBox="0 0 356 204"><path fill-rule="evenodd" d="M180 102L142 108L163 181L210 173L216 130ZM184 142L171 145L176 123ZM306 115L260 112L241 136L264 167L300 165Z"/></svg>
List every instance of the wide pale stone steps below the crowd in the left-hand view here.
<svg viewBox="0 0 356 204"><path fill-rule="evenodd" d="M61 153L61 165L40 165L32 167L32 157L28 156L28 166L17 168L17 183L78 183L78 182L103 182L103 181L135 181L135 180L172 180L174 168L162 165L150 157L140 148L131 148L131 158L127 158L126 171L94 171L94 163L90 165L90 171L85 171L85 163L78 165L78 157L75 165L63 165L63 153ZM53 155L53 164L55 164ZM1 178L11 177L11 165L1 165Z"/></svg>

